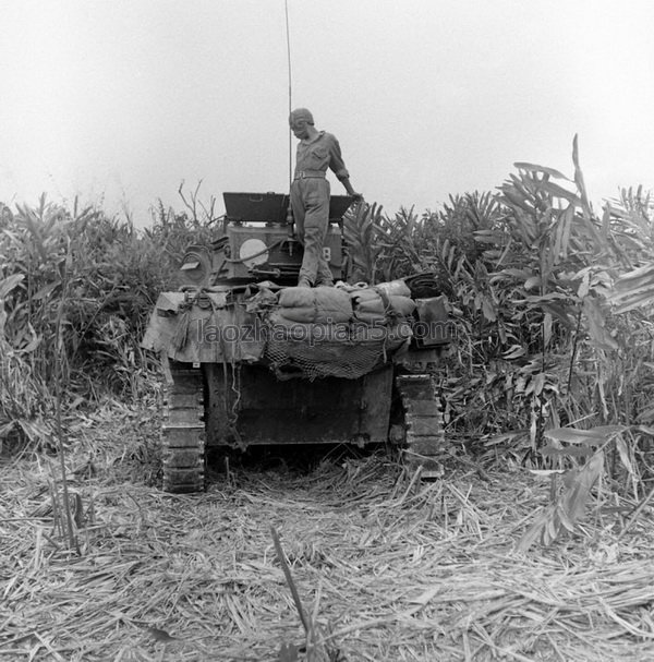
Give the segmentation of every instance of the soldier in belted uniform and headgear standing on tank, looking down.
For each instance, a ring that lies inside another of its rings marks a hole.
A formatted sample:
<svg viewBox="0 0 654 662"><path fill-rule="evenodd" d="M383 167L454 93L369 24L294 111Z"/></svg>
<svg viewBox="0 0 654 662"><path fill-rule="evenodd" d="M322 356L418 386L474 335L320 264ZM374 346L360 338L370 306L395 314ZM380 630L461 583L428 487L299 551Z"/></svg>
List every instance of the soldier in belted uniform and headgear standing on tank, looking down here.
<svg viewBox="0 0 654 662"><path fill-rule="evenodd" d="M329 228L329 181L327 168L334 171L349 195L362 200L350 183L336 136L314 127L312 113L298 108L289 118L296 139L295 174L291 184L291 207L298 238L304 246L299 287L331 286L329 264L323 255L323 243Z"/></svg>

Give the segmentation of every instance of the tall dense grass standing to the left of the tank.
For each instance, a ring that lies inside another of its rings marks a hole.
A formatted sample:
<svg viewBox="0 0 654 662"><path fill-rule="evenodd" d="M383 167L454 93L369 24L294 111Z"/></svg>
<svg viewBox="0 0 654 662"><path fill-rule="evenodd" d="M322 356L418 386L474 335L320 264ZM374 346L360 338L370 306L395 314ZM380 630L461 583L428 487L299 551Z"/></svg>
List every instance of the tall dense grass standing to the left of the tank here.
<svg viewBox="0 0 654 662"><path fill-rule="evenodd" d="M158 293L177 287L184 248L209 229L161 204L141 232L45 195L0 210L0 443L44 443L56 386L69 407L148 393L152 359L140 348L147 316Z"/></svg>

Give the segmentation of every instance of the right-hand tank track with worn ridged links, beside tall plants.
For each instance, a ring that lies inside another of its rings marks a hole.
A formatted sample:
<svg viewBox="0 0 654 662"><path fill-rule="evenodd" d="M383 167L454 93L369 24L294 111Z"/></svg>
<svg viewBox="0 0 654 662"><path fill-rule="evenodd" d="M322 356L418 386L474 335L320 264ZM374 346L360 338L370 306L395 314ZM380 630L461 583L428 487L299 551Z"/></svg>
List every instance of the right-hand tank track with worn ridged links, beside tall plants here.
<svg viewBox="0 0 654 662"><path fill-rule="evenodd" d="M396 388L404 417L404 465L420 467L423 478L439 478L439 460L446 455L445 431L432 375L397 375Z"/></svg>

